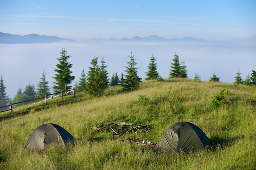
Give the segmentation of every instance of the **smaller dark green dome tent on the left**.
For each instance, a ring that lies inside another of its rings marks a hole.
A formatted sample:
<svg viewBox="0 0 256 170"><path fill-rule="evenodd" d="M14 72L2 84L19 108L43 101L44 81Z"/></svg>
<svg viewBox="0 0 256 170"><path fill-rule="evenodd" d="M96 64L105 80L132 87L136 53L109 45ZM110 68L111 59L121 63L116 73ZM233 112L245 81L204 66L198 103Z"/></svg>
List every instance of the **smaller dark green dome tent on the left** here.
<svg viewBox="0 0 256 170"><path fill-rule="evenodd" d="M38 126L38 128L31 133L24 148L40 150L47 148L49 144L53 143L65 146L69 141L74 142L74 137L65 129L57 124L46 123Z"/></svg>

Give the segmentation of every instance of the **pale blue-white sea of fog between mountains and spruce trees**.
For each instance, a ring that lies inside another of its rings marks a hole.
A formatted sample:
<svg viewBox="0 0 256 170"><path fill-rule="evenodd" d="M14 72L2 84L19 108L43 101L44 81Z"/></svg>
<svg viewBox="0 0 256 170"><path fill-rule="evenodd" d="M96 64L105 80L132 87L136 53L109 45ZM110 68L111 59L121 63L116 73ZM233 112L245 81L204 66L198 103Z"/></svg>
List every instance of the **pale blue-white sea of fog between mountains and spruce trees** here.
<svg viewBox="0 0 256 170"><path fill-rule="evenodd" d="M30 83L37 84L45 70L46 80L52 88L54 68L58 63L62 48L71 55L72 75L79 81L81 72L88 67L94 56L102 57L107 65L109 78L117 72L118 76L127 66L131 52L134 55L139 76L144 80L152 54L156 58L157 71L167 78L173 63L173 55L178 53L180 61L187 66L189 78L198 73L202 81L216 73L221 82L232 83L240 69L242 78L256 70L256 45L231 41L216 42L124 42L124 41L87 41L59 42L50 44L0 44L0 75L4 80L5 91L9 98L16 95L19 88L25 89ZM100 64L100 62L99 62Z"/></svg>

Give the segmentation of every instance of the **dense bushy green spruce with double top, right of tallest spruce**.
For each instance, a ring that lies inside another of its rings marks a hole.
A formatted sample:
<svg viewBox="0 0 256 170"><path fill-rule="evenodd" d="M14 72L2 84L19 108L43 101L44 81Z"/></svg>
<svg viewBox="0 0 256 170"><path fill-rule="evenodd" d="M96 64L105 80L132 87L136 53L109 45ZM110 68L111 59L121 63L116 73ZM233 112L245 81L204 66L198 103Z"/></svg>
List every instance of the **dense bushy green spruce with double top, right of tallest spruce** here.
<svg viewBox="0 0 256 170"><path fill-rule="evenodd" d="M98 65L98 57L93 57L92 67L87 73L86 90L92 96L101 96L108 87L108 72L106 71L105 61L102 59L101 66Z"/></svg>

